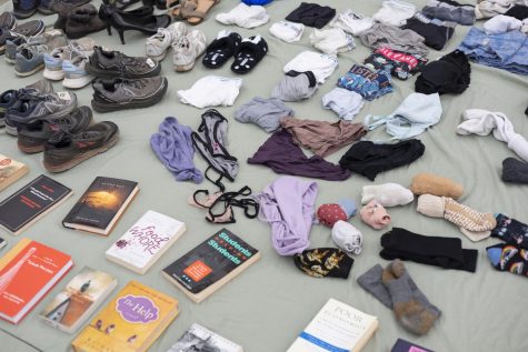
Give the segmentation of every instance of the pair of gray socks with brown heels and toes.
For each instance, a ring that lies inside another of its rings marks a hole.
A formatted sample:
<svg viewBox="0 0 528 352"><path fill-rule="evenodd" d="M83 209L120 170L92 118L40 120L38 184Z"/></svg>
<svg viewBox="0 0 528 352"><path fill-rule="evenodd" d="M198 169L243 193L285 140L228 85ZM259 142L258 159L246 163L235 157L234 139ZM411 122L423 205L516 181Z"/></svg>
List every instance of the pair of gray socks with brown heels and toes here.
<svg viewBox="0 0 528 352"><path fill-rule="evenodd" d="M385 270L376 264L357 281L392 309L401 326L415 334L426 334L440 316L440 310L418 289L400 260L389 263Z"/></svg>

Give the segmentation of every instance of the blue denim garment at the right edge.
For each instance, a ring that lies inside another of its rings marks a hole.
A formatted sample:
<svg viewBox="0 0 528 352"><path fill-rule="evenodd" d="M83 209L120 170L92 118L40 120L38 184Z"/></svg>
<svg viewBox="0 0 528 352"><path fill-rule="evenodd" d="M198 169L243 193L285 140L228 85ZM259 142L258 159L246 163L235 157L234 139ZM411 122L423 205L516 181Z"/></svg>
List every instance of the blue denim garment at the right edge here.
<svg viewBox="0 0 528 352"><path fill-rule="evenodd" d="M477 63L528 74L528 36L520 31L487 36L472 27L458 49Z"/></svg>

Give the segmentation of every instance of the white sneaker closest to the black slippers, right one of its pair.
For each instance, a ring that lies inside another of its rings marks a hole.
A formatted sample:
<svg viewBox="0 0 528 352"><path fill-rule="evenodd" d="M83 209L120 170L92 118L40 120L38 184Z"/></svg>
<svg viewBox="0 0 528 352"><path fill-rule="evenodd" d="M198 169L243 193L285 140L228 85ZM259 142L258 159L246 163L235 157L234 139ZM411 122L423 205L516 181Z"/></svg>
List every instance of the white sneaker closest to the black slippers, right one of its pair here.
<svg viewBox="0 0 528 352"><path fill-rule="evenodd" d="M196 59L206 51L206 34L195 29L173 42L172 50L175 70L178 72L189 71L195 67Z"/></svg>

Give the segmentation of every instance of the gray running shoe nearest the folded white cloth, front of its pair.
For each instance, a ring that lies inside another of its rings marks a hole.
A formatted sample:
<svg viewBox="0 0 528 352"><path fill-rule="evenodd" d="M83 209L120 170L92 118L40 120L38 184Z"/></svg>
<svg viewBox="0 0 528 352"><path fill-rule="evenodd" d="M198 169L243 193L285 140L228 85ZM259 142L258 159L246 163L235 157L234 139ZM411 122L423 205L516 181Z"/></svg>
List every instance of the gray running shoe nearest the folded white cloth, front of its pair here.
<svg viewBox="0 0 528 352"><path fill-rule="evenodd" d="M136 80L98 79L93 82L91 105L93 110L99 112L147 108L163 98L167 87L167 79L161 76Z"/></svg>

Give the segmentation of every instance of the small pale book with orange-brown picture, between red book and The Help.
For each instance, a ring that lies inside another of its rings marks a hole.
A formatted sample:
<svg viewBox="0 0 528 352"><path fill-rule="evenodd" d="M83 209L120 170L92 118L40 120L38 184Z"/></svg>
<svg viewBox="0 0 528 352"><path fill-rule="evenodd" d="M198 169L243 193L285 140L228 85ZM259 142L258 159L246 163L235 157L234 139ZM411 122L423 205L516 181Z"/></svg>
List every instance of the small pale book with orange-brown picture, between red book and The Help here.
<svg viewBox="0 0 528 352"><path fill-rule="evenodd" d="M48 303L39 316L51 326L72 333L93 313L117 284L112 275L84 266Z"/></svg>

